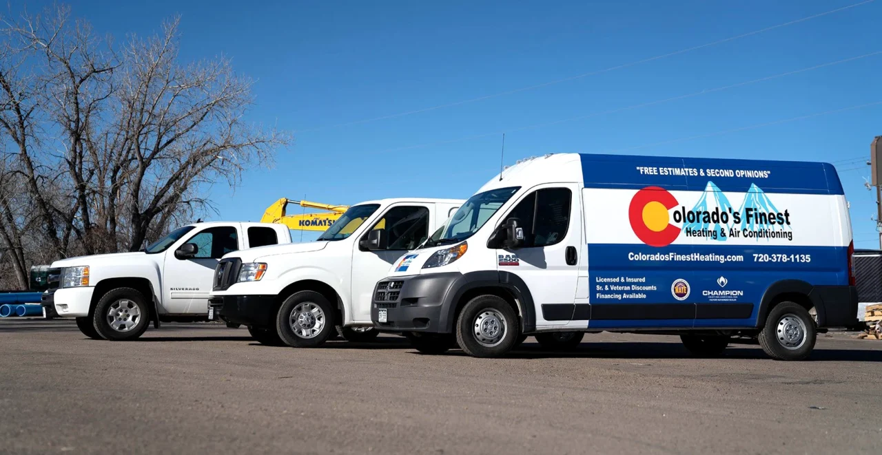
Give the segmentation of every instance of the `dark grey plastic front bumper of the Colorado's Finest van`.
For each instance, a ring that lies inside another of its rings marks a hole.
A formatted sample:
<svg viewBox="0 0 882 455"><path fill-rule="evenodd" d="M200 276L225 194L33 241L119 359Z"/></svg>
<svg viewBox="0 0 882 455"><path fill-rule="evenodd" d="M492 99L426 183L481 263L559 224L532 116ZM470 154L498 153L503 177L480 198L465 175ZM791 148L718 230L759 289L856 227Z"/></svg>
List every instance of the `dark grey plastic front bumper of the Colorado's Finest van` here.
<svg viewBox="0 0 882 455"><path fill-rule="evenodd" d="M380 280L371 297L370 320L380 332L449 333L452 295L459 280L460 272ZM383 310L385 321L379 317Z"/></svg>

